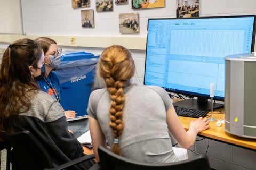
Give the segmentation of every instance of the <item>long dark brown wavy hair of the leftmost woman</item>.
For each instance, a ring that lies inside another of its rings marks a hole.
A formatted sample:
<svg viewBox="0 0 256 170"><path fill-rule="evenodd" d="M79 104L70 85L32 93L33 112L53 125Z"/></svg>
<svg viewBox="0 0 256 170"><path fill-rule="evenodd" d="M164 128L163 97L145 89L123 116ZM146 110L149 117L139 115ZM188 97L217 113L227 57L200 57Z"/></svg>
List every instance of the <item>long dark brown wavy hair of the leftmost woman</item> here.
<svg viewBox="0 0 256 170"><path fill-rule="evenodd" d="M31 107L39 87L29 66L37 68L41 55L42 48L27 38L14 41L5 50L0 67L0 132L13 132L15 116Z"/></svg>

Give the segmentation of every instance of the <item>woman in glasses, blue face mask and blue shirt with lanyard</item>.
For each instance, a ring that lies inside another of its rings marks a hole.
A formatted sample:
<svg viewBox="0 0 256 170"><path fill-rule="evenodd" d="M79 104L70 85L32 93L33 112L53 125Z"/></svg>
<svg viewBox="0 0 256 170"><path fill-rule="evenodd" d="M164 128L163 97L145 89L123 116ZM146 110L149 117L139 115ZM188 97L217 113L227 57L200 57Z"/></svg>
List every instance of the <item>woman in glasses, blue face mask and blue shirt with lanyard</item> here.
<svg viewBox="0 0 256 170"><path fill-rule="evenodd" d="M58 48L57 43L48 37L39 37L35 41L42 47L45 58L45 74L41 80L38 81L40 88L56 98L60 103L60 94L62 89L57 73L54 71L60 65L62 49ZM75 111L64 111L65 116L75 117ZM76 120L69 122L69 130L73 132L76 138L89 130L87 120Z"/></svg>

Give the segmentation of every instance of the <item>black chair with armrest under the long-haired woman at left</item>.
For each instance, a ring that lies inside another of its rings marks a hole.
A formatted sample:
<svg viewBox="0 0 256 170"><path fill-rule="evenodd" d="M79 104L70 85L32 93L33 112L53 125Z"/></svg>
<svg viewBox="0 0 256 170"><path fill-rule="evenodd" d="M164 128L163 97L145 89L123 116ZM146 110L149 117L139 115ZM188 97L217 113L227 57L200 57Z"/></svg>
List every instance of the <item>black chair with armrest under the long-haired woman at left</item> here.
<svg viewBox="0 0 256 170"><path fill-rule="evenodd" d="M51 157L34 135L25 130L17 133L2 133L7 150L6 170L10 169L49 169L60 170L95 158L93 154L85 155L70 162L54 167ZM25 156L23 153L27 153ZM74 167L75 168L75 167Z"/></svg>

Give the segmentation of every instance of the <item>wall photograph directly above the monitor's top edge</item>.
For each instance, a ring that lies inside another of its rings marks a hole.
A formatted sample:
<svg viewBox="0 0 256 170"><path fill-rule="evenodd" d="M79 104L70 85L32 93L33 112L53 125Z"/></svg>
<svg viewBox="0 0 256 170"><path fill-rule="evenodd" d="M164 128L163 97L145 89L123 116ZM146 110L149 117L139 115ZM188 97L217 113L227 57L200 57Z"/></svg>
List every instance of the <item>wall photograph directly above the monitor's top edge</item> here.
<svg viewBox="0 0 256 170"><path fill-rule="evenodd" d="M199 0L176 0L176 18L199 17Z"/></svg>

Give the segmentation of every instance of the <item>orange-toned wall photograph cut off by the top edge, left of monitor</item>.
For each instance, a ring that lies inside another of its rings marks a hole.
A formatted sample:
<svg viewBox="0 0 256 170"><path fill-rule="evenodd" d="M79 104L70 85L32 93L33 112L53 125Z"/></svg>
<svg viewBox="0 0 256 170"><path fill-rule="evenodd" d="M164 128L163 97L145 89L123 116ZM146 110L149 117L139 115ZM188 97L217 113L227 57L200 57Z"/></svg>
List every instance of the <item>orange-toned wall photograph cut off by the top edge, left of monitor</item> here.
<svg viewBox="0 0 256 170"><path fill-rule="evenodd" d="M164 7L165 0L132 0L132 9Z"/></svg>

